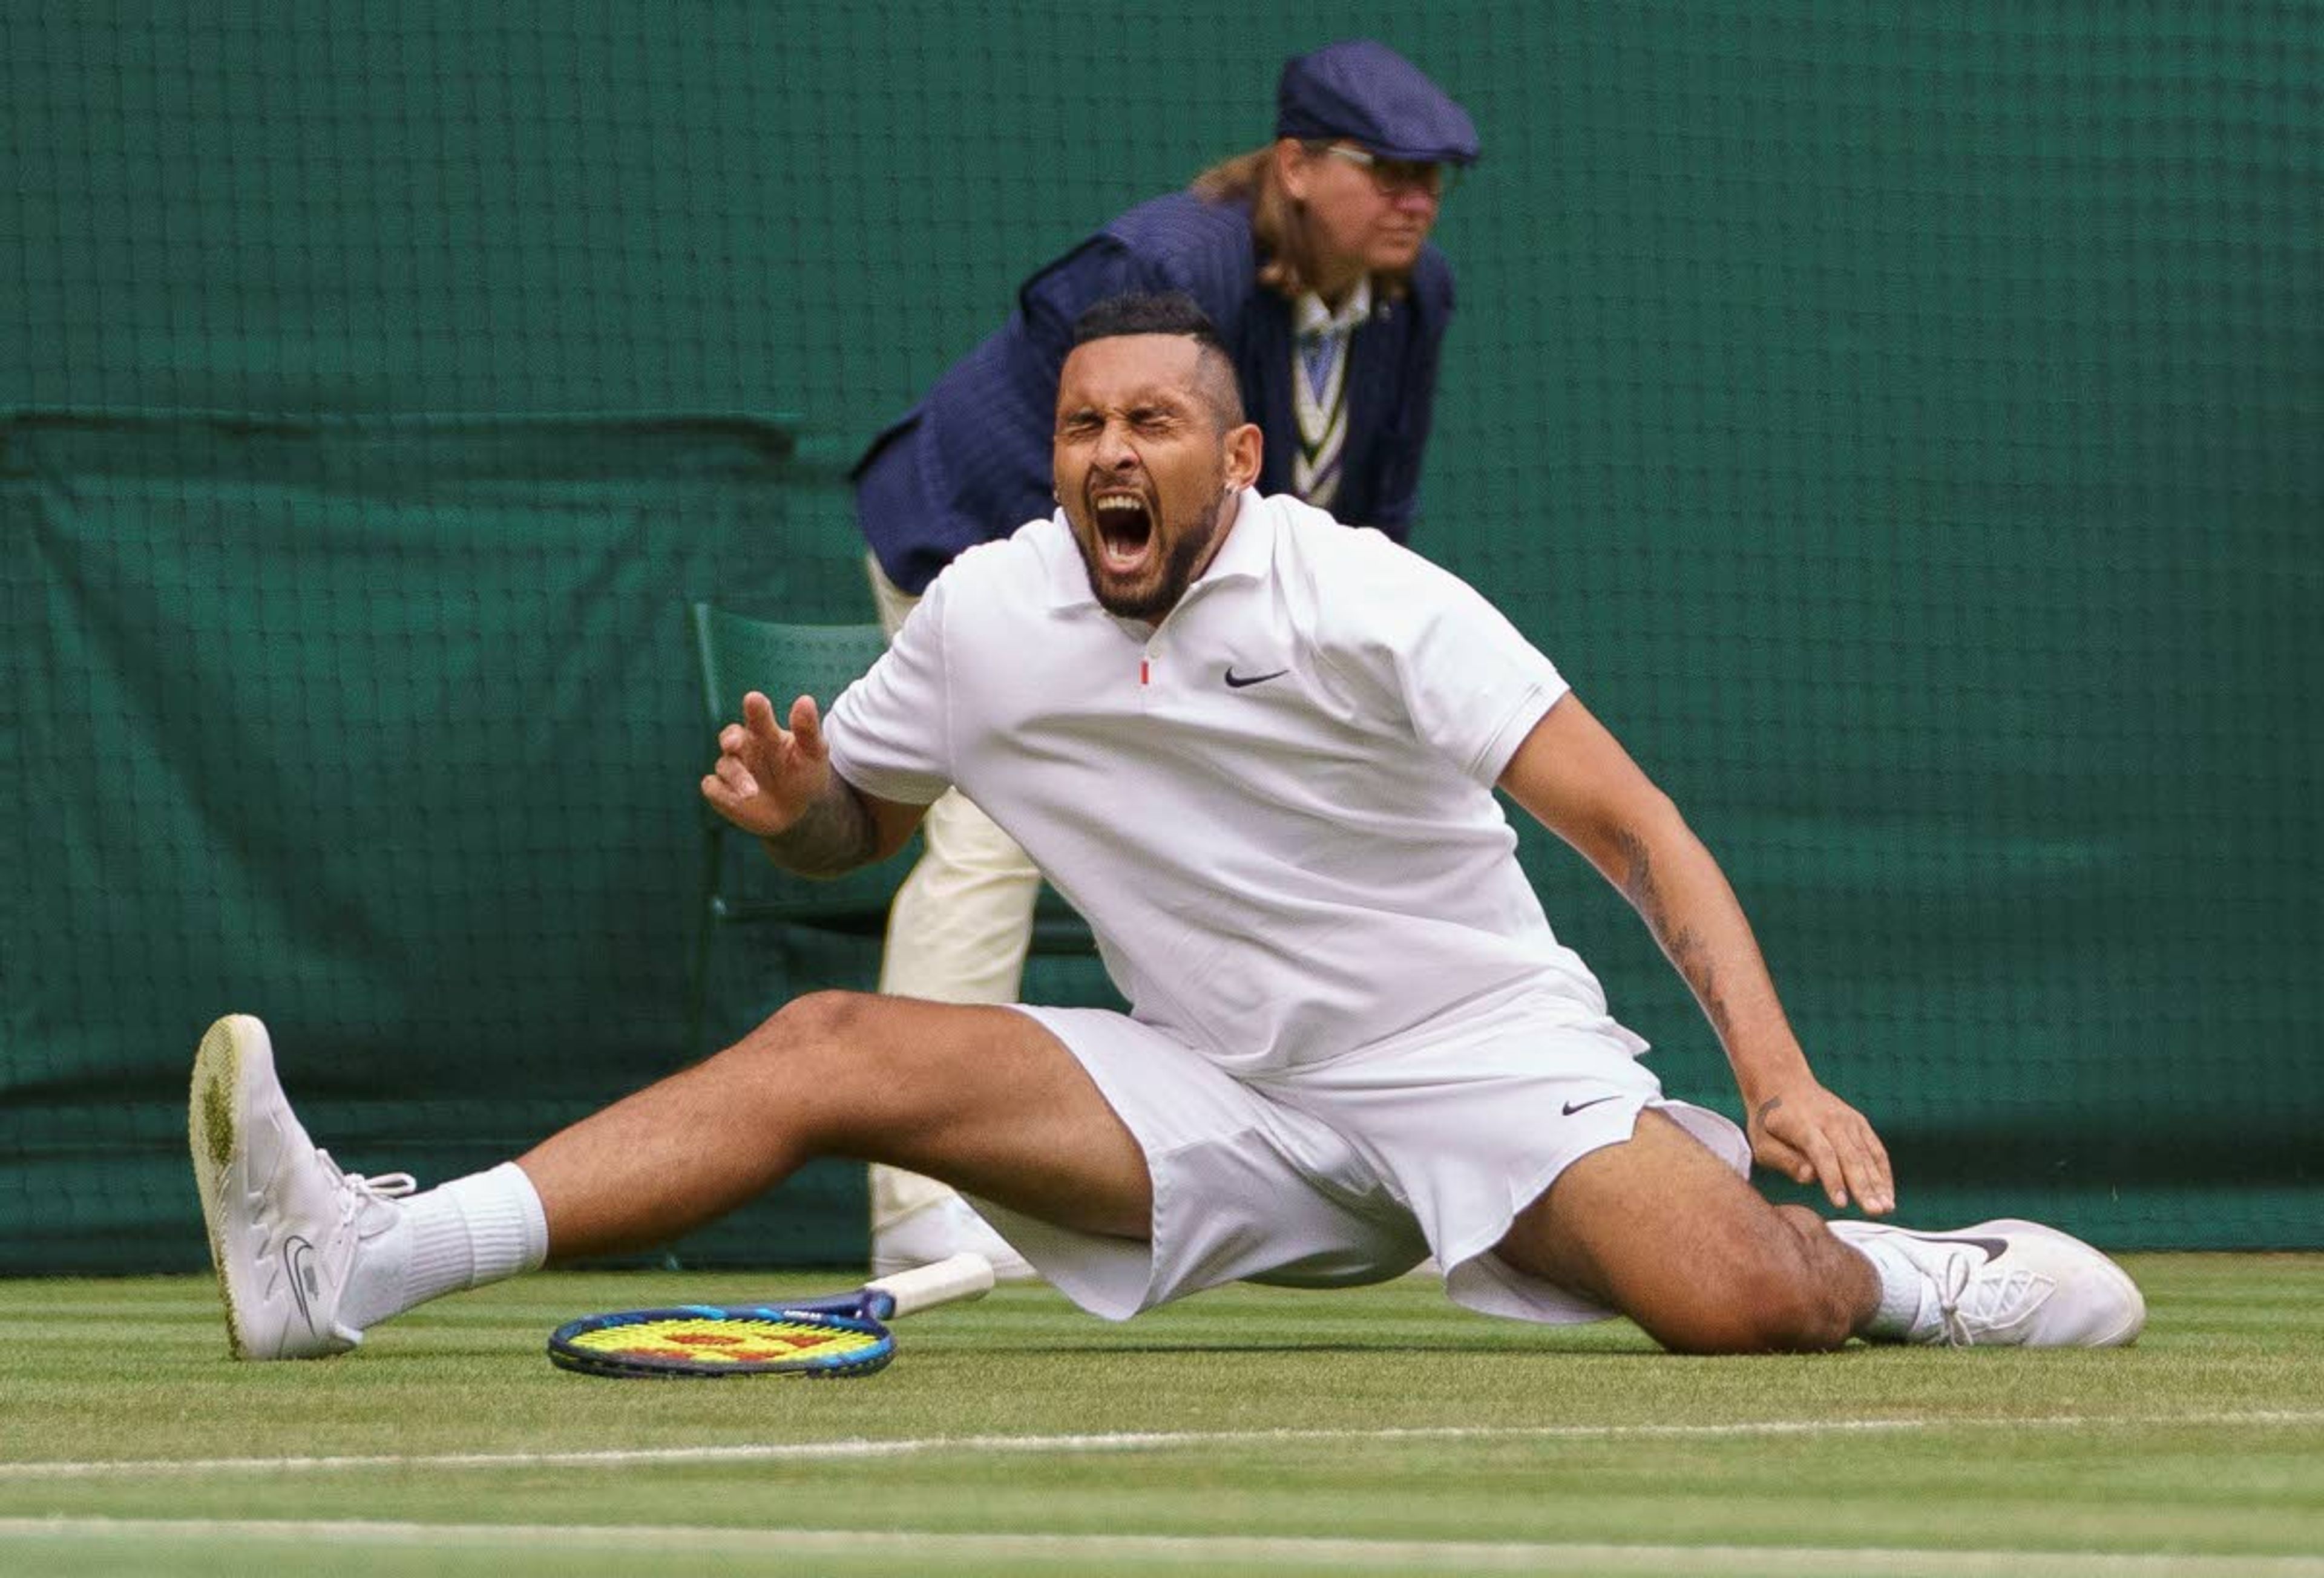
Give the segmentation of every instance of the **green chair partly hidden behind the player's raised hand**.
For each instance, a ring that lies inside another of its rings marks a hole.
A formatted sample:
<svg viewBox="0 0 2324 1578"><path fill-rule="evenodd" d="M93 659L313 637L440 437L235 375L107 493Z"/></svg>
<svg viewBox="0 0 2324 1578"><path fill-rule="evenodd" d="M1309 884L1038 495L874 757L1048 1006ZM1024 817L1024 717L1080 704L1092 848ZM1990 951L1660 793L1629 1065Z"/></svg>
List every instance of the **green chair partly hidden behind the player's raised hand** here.
<svg viewBox="0 0 2324 1578"><path fill-rule="evenodd" d="M806 693L825 709L885 651L878 625L786 625L732 614L706 602L688 604L686 627L702 679L702 720L716 753L718 730L741 716L744 690L765 690L781 716L790 697ZM776 923L841 937L881 939L888 904L918 860L918 837L878 865L830 881L790 876L760 862L748 878L730 881L725 834L732 825L702 806L702 909L695 923L695 960L686 1046L702 1055L709 1016L711 953L727 925ZM1048 883L1034 904L1034 955L1088 955L1097 944L1088 923Z"/></svg>

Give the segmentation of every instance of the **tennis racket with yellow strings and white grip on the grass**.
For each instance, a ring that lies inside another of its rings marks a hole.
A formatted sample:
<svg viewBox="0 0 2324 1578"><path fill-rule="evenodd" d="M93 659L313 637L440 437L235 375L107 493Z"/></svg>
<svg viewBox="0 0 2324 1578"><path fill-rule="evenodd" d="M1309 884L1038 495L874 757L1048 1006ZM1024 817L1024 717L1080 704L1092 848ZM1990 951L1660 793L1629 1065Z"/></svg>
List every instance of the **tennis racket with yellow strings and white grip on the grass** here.
<svg viewBox="0 0 2324 1578"><path fill-rule="evenodd" d="M883 1322L992 1290L983 1255L881 1276L797 1304L679 1304L567 1320L548 1362L579 1376L869 1376L895 1357Z"/></svg>

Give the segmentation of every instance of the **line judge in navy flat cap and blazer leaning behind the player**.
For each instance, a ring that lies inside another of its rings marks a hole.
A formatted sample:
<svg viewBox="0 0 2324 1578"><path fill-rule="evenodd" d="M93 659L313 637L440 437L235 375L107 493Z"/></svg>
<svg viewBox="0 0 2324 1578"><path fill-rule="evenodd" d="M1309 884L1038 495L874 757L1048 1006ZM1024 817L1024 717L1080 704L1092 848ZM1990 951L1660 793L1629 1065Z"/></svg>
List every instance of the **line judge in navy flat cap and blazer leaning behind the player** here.
<svg viewBox="0 0 2324 1578"><path fill-rule="evenodd" d="M1122 291L1185 291L1211 314L1264 432L1264 493L1404 541L1452 321L1452 267L1429 235L1478 146L1469 112L1376 40L1285 60L1271 142L1032 274L1009 321L865 451L855 514L890 637L955 553L1048 511L1050 407L1074 318ZM920 834L878 988L1016 1002L1039 869L957 792L927 809ZM995 1257L1004 1278L1030 1274L951 1190L874 1167L871 1269L955 1250Z"/></svg>

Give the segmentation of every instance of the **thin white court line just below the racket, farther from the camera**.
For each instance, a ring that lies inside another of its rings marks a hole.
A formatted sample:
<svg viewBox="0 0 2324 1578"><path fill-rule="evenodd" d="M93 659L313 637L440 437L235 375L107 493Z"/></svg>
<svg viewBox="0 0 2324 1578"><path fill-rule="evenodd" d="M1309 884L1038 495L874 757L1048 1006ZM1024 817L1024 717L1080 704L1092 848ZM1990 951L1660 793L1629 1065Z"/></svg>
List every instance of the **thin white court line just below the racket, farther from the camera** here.
<svg viewBox="0 0 2324 1578"><path fill-rule="evenodd" d="M2050 1413L2038 1418L1892 1418L1892 1420L1757 1420L1738 1425L1441 1425L1411 1429L1185 1429L1113 1432L1092 1436L902 1436L839 1441L748 1441L737 1446L641 1446L597 1453L376 1453L363 1457L137 1457L81 1462L0 1462L5 1480L100 1478L109 1473L290 1473L337 1469L627 1469L637 1464L716 1462L832 1462L855 1457L918 1457L930 1453L1169 1453L1232 1446L1341 1446L1394 1441L1722 1441L1750 1436L1927 1434L1941 1429L2143 1429L2143 1427L2303 1427L2324 1425L2324 1411L2259 1408L2245 1413Z"/></svg>

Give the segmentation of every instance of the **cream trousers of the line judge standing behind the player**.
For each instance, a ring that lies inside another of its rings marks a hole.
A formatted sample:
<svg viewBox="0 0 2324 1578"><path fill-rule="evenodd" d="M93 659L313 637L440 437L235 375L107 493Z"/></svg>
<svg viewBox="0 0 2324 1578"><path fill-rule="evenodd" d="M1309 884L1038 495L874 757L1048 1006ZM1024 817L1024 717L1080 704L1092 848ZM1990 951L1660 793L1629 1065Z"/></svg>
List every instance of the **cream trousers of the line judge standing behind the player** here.
<svg viewBox="0 0 2324 1578"><path fill-rule="evenodd" d="M871 567L871 602L888 639L920 600ZM1025 985L1032 906L1041 872L1016 839L960 790L946 790L920 823L925 853L888 911L878 990L932 1002L1013 1004ZM871 1167L871 1232L951 1199L953 1190L895 1167Z"/></svg>

